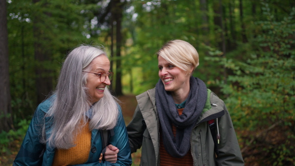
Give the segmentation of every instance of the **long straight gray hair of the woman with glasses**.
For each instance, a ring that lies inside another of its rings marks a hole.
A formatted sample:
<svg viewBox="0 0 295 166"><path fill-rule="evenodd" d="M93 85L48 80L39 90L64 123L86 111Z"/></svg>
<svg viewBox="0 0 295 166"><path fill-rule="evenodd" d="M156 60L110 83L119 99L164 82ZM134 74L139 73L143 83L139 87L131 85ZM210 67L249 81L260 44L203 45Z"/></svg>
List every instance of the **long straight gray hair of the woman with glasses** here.
<svg viewBox="0 0 295 166"><path fill-rule="evenodd" d="M59 149L73 147L74 140L82 125L90 117L89 130L109 130L116 126L118 118L118 99L105 88L104 96L92 106L89 105L87 76L82 71L90 71L90 62L99 55L107 55L102 49L81 45L72 50L62 64L55 100L45 117L53 119L50 137L46 138L45 125L42 142Z"/></svg>

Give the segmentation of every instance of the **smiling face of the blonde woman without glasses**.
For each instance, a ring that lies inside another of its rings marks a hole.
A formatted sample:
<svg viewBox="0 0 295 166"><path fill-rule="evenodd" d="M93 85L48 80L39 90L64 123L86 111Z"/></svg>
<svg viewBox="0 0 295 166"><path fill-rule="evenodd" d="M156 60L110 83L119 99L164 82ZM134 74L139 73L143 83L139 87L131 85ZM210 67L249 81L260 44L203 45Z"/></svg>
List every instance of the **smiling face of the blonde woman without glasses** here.
<svg viewBox="0 0 295 166"><path fill-rule="evenodd" d="M187 94L189 92L190 73L169 63L162 56L158 56L159 78L162 80L165 90L171 91L172 96L176 94Z"/></svg>

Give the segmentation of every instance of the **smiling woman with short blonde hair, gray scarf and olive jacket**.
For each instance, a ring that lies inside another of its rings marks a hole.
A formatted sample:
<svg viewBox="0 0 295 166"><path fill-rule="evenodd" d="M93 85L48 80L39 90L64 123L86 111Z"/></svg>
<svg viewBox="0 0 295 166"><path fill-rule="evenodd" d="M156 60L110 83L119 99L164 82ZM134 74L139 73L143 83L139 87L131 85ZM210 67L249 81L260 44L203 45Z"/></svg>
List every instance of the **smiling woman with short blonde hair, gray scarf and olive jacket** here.
<svg viewBox="0 0 295 166"><path fill-rule="evenodd" d="M127 126L131 152L142 148L141 166L243 166L224 102L192 76L199 65L197 50L172 40L157 57L160 79L136 96L138 106Z"/></svg>

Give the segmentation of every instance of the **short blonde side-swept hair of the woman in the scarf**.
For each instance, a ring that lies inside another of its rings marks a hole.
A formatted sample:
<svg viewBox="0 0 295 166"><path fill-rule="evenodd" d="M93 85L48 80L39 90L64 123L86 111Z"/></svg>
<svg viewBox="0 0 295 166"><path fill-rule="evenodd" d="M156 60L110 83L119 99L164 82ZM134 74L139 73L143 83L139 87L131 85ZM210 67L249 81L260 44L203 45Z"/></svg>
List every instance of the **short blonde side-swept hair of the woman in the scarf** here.
<svg viewBox="0 0 295 166"><path fill-rule="evenodd" d="M157 52L157 56L159 55L184 71L190 71L191 67L195 69L199 66L197 50L183 40L171 40L164 44Z"/></svg>

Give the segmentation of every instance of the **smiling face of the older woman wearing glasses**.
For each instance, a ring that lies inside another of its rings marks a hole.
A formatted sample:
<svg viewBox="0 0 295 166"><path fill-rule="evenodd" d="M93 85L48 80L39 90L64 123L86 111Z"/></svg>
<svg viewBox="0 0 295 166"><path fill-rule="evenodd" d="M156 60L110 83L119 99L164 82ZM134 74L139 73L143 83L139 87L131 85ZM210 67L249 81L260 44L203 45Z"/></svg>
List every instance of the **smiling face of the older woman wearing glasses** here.
<svg viewBox="0 0 295 166"><path fill-rule="evenodd" d="M100 78L92 73L102 74L108 73L110 70L110 60L105 55L99 55L95 57L91 63L89 64L91 70L87 73L87 84L88 94L89 94L89 102L91 104L99 101L103 97L104 89L107 85L111 84L111 81L107 77L104 82L100 82Z"/></svg>

